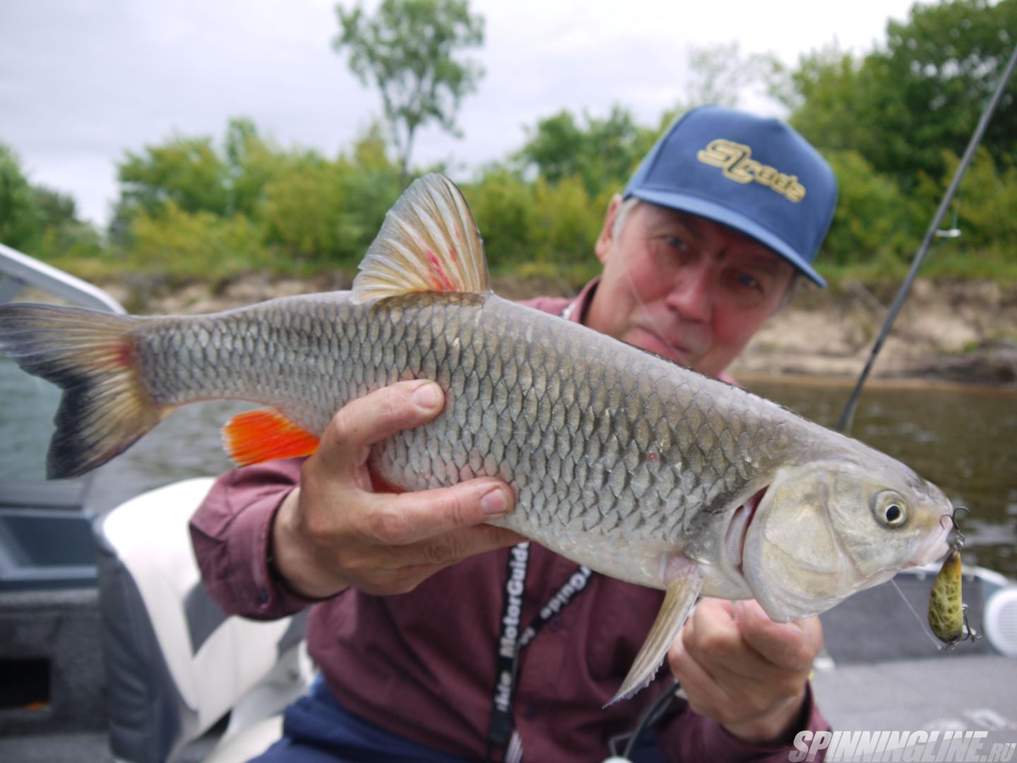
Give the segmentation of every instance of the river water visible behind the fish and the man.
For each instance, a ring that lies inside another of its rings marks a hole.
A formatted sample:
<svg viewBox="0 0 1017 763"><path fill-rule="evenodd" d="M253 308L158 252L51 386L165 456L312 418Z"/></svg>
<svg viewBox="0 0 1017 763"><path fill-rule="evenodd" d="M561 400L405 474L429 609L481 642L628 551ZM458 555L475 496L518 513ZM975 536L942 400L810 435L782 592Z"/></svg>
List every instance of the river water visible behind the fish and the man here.
<svg viewBox="0 0 1017 763"><path fill-rule="evenodd" d="M833 426L850 389L781 379L746 387ZM0 480L42 479L57 391L0 358ZM219 428L238 403L199 403L172 414L149 435L97 470L89 512L105 512L138 492L229 468ZM858 406L853 436L913 467L973 516L965 564L1017 578L1017 395L975 388L871 386Z"/></svg>

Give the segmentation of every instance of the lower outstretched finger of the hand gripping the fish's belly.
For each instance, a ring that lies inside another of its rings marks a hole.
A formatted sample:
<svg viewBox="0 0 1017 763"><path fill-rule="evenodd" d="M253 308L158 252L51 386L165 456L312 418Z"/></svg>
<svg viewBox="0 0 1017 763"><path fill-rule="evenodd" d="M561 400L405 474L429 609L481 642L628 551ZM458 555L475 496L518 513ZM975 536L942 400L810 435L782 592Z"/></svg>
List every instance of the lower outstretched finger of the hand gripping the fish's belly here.
<svg viewBox="0 0 1017 763"><path fill-rule="evenodd" d="M508 485L480 477L451 487L384 494L365 516L363 530L376 543L408 545L503 517L515 504Z"/></svg>

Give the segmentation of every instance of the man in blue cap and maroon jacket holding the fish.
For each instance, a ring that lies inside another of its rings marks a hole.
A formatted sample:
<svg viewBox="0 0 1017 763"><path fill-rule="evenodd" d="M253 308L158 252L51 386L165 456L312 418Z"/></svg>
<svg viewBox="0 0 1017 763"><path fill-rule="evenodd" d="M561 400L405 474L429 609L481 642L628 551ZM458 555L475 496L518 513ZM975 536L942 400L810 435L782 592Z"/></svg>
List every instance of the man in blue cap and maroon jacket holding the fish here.
<svg viewBox="0 0 1017 763"><path fill-rule="evenodd" d="M786 125L695 110L611 201L601 278L575 300L531 304L723 378L798 274L822 285L811 262L835 201L829 167ZM602 709L659 591L577 577L536 544L523 564L525 547L505 548L520 537L483 524L513 508L497 480L375 491L370 446L442 404L426 380L356 400L315 455L230 472L195 515L205 585L227 611L316 604L308 642L322 680L259 760L600 760L661 693ZM499 635L531 622L541 628L513 681L496 667ZM663 755L786 760L795 731L824 727L807 688L821 644L815 618L778 625L755 602L702 601L668 655L689 699L655 726Z"/></svg>

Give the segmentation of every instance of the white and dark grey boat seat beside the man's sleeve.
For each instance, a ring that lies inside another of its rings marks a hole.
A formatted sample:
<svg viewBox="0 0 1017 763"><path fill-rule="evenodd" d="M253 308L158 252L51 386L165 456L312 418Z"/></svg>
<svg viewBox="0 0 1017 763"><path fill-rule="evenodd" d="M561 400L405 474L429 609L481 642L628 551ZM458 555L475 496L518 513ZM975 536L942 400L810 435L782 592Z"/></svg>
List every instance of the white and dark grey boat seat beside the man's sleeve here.
<svg viewBox="0 0 1017 763"><path fill-rule="evenodd" d="M119 760L172 760L232 710L228 742L281 712L312 678L304 617L227 618L201 587L188 521L212 483L152 490L97 523L110 747Z"/></svg>

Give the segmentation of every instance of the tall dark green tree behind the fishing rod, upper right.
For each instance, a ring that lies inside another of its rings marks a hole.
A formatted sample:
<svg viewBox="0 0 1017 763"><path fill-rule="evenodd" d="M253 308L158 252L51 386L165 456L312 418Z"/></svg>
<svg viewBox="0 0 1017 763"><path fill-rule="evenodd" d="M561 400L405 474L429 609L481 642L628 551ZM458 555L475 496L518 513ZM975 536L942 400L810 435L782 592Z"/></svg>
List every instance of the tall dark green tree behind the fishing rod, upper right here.
<svg viewBox="0 0 1017 763"><path fill-rule="evenodd" d="M827 50L789 72L791 123L823 149L854 149L910 189L960 153L1017 44L1017 0L915 4L860 59ZM984 138L997 161L1017 157L1017 80Z"/></svg>

